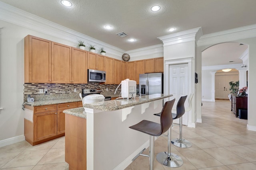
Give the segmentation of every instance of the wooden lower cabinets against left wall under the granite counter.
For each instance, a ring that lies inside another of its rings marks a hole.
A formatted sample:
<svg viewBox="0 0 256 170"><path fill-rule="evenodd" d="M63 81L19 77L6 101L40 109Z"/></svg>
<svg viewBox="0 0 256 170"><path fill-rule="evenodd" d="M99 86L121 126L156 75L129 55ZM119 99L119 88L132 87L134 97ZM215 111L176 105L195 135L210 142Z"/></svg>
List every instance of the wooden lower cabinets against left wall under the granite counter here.
<svg viewBox="0 0 256 170"><path fill-rule="evenodd" d="M80 102L45 106L25 105L24 135L31 145L37 145L65 135L65 109L78 107Z"/></svg>

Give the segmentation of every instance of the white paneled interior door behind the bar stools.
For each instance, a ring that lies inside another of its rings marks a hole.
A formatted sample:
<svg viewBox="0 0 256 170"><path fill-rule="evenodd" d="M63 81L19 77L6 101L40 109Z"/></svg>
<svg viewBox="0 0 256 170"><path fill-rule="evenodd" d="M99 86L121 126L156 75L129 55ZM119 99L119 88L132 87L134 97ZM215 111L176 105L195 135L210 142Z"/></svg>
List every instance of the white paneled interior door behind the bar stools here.
<svg viewBox="0 0 256 170"><path fill-rule="evenodd" d="M176 108L177 102L181 96L188 95L188 64L176 64L169 65L169 94L172 94L175 98L173 108ZM188 105L188 98L185 102L185 107ZM173 113L176 111L173 110ZM179 123L178 119L173 121ZM188 113L184 113L182 116L182 124L188 125Z"/></svg>

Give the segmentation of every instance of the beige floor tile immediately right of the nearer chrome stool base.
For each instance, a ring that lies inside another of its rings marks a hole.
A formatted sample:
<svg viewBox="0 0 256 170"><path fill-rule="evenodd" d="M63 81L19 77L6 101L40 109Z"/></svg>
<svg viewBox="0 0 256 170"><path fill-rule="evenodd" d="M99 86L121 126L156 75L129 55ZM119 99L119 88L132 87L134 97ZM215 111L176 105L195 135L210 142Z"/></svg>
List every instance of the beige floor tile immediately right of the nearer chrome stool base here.
<svg viewBox="0 0 256 170"><path fill-rule="evenodd" d="M208 168L223 165L208 153L204 152L204 150L187 150L180 151L180 153L194 166L196 166L196 168Z"/></svg>

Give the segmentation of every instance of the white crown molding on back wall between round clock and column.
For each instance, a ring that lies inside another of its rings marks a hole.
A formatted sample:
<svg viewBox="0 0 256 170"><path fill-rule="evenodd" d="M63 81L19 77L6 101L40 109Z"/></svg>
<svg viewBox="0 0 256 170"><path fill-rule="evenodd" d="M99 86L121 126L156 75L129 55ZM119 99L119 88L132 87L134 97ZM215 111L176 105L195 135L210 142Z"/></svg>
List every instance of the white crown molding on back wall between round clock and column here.
<svg viewBox="0 0 256 170"><path fill-rule="evenodd" d="M152 45L149 47L143 47L139 49L134 49L130 51L126 51L130 55L130 57L139 57L142 55L151 55L155 53L164 53L163 44Z"/></svg>

